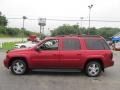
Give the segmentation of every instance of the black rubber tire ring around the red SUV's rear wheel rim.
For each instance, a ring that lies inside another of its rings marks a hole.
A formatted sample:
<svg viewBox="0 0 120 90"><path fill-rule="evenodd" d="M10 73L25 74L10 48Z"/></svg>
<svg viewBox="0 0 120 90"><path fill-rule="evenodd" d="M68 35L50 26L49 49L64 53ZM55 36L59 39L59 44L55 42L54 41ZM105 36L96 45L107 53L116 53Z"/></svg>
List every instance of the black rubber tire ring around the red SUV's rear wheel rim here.
<svg viewBox="0 0 120 90"><path fill-rule="evenodd" d="M91 64L96 64L96 65L99 66L99 72L98 72L98 74L95 75L95 76L92 76L92 75L89 74L89 72L88 72L88 67L89 67ZM85 73L86 73L89 77L97 77L97 76L100 75L101 71L102 71L102 66L101 66L101 64L100 64L99 62L96 62L96 61L91 61L91 62L89 62L89 63L86 65L86 68L85 68Z"/></svg>

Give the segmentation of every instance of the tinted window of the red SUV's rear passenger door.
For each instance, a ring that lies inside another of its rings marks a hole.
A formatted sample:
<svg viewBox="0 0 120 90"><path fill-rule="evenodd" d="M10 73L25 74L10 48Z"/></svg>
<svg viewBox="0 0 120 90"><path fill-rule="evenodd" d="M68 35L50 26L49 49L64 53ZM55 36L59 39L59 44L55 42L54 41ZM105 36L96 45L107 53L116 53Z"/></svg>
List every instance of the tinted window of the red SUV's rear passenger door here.
<svg viewBox="0 0 120 90"><path fill-rule="evenodd" d="M63 39L63 50L80 50L80 41L78 39Z"/></svg>

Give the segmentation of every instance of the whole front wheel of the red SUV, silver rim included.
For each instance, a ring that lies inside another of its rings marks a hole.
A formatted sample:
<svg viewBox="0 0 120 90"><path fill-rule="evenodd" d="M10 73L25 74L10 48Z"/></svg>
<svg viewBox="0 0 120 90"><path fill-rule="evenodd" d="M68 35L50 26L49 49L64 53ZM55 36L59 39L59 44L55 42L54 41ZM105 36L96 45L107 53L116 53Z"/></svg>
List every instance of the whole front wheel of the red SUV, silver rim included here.
<svg viewBox="0 0 120 90"><path fill-rule="evenodd" d="M11 64L11 72L15 75L24 75L27 72L27 65L23 60L15 60Z"/></svg>

